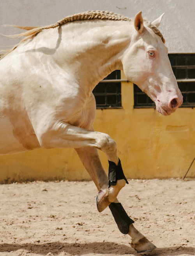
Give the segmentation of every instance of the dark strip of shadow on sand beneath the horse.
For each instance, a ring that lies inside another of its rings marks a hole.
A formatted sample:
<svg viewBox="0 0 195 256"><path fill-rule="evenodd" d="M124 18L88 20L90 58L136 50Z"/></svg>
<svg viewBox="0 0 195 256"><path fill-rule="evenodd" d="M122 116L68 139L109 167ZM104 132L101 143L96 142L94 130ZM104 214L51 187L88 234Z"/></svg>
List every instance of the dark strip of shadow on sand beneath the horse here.
<svg viewBox="0 0 195 256"><path fill-rule="evenodd" d="M93 242L93 243L35 243L35 244L0 244L0 252L13 252L18 250L24 250L26 253L43 254L46 255L49 252L51 254L60 254L61 252L66 252L71 255L83 255L83 254L129 254L130 255L140 255L133 248L127 245L121 245L110 242ZM195 255L194 247L165 247L157 248L152 252L145 253L150 256L179 256L182 254Z"/></svg>

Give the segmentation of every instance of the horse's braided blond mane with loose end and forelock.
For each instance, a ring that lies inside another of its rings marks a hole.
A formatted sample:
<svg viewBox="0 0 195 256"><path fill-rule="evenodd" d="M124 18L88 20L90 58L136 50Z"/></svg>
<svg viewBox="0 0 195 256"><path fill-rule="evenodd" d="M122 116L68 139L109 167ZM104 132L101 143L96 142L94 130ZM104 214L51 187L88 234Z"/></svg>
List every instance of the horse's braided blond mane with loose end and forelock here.
<svg viewBox="0 0 195 256"><path fill-rule="evenodd" d="M20 28L20 29L27 30L27 31L24 32L24 33L21 33L21 34L8 36L10 38L15 38L15 39L19 39L19 38L23 37L23 39L21 39L21 41L18 44L16 44L13 48L11 48L9 50L1 50L1 52L5 52L4 54L1 55L1 59L3 57L5 57L5 55L7 55L8 53L10 53L14 49L16 49L21 43L27 41L28 39L32 39L33 37L37 36L37 34L39 34L39 32L43 31L44 29L56 28L56 27L59 27L59 26L62 26L64 24L66 24L68 22L82 21L82 20L94 20L94 19L99 19L99 20L122 20L122 21L131 21L132 20L131 18L128 18L128 17L125 17L121 14L116 14L116 13L110 12L110 11L87 11L87 12L82 12L82 13L78 13L78 14L73 14L71 16L67 16L64 19L59 20L57 23L55 23L53 25L44 26L44 27L11 26L11 27ZM150 23L149 21L144 20L144 23L146 23L147 27L151 28L154 31L155 34L160 36L163 43L165 43L165 39L163 38L160 31L156 28L156 26L152 25L152 23Z"/></svg>

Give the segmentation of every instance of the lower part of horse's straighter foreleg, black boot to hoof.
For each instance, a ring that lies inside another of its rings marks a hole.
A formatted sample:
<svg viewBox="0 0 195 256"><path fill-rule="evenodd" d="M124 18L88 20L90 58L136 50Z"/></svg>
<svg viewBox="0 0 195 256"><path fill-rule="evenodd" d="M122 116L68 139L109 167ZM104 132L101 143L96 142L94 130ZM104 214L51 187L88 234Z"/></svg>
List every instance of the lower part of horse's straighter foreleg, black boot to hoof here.
<svg viewBox="0 0 195 256"><path fill-rule="evenodd" d="M129 218L121 203L111 203L109 208L121 233L131 236L131 247L137 252L152 251L156 248L133 226L134 221Z"/></svg>

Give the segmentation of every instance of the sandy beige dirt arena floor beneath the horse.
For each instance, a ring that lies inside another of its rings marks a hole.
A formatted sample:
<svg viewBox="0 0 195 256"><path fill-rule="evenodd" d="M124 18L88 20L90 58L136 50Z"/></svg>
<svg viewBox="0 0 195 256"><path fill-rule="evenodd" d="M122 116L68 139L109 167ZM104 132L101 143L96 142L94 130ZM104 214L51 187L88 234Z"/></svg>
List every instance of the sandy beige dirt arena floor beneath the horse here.
<svg viewBox="0 0 195 256"><path fill-rule="evenodd" d="M96 194L91 181L0 185L0 256L140 255ZM118 199L157 246L147 255L195 255L195 180L129 180Z"/></svg>

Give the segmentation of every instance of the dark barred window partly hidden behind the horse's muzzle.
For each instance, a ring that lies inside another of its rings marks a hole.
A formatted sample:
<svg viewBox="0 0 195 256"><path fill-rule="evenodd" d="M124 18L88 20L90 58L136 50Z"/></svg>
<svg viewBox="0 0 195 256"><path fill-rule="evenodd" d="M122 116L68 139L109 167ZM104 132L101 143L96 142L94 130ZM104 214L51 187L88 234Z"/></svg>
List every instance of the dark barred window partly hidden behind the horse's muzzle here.
<svg viewBox="0 0 195 256"><path fill-rule="evenodd" d="M181 107L195 107L195 54L169 54L170 63L183 94ZM134 84L134 108L154 108L153 101Z"/></svg>

